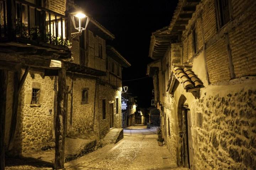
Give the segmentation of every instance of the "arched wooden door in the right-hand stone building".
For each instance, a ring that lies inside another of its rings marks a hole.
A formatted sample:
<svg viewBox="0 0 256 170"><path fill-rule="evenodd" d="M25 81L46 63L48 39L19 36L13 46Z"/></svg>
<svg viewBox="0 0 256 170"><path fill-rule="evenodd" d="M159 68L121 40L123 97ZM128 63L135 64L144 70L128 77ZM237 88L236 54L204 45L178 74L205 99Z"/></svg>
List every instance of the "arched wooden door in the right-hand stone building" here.
<svg viewBox="0 0 256 170"><path fill-rule="evenodd" d="M193 165L193 146L191 134L191 114L188 106L182 106L182 165L185 168L192 168Z"/></svg>

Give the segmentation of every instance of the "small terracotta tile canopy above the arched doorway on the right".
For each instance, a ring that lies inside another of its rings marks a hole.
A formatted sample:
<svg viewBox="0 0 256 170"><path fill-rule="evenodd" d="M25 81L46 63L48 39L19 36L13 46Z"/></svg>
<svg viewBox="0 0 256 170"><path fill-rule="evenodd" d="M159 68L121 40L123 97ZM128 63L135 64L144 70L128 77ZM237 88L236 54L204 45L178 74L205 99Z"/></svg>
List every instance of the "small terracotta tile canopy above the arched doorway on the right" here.
<svg viewBox="0 0 256 170"><path fill-rule="evenodd" d="M204 87L202 81L191 69L175 67L173 73L186 90Z"/></svg>

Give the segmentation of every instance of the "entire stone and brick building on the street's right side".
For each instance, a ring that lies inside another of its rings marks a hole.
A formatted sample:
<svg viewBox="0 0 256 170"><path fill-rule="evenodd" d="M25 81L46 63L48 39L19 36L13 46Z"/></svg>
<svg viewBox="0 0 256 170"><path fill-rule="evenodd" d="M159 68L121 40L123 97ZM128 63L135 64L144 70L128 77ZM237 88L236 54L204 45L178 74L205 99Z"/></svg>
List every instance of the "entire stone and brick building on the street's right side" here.
<svg viewBox="0 0 256 170"><path fill-rule="evenodd" d="M256 3L180 0L152 33L162 135L178 166L256 169Z"/></svg>

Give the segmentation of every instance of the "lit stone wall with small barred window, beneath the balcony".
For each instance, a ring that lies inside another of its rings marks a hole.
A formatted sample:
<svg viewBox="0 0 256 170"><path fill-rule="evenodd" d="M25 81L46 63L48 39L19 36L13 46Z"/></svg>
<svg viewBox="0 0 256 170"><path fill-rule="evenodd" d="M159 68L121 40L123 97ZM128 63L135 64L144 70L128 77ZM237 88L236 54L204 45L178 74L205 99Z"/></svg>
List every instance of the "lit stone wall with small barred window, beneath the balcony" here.
<svg viewBox="0 0 256 170"><path fill-rule="evenodd" d="M22 152L41 148L53 137L54 77L31 70L20 92L14 147ZM31 104L32 88L40 89L39 104Z"/></svg>

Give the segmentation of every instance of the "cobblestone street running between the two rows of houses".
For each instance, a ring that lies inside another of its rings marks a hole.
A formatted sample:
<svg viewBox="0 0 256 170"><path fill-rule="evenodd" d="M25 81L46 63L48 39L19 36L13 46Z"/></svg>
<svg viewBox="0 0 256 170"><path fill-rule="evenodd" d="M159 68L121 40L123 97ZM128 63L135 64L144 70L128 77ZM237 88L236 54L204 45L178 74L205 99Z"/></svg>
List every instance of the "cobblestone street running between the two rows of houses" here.
<svg viewBox="0 0 256 170"><path fill-rule="evenodd" d="M165 146L158 146L156 130L130 127L124 138L65 163L67 170L186 170L177 168Z"/></svg>

